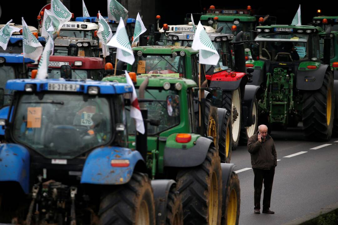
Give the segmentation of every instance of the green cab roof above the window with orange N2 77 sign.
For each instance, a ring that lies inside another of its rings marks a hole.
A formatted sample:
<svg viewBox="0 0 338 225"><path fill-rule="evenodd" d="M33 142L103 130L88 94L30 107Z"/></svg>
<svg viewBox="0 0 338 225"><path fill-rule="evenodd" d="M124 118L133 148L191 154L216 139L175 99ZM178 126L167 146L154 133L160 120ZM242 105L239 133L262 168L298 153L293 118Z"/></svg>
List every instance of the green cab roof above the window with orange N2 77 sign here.
<svg viewBox="0 0 338 225"><path fill-rule="evenodd" d="M191 47L186 46L142 46L132 48L134 52L141 51L144 54L172 54L174 52L184 51L186 55L190 56L192 54L198 53L198 51L193 50Z"/></svg>

